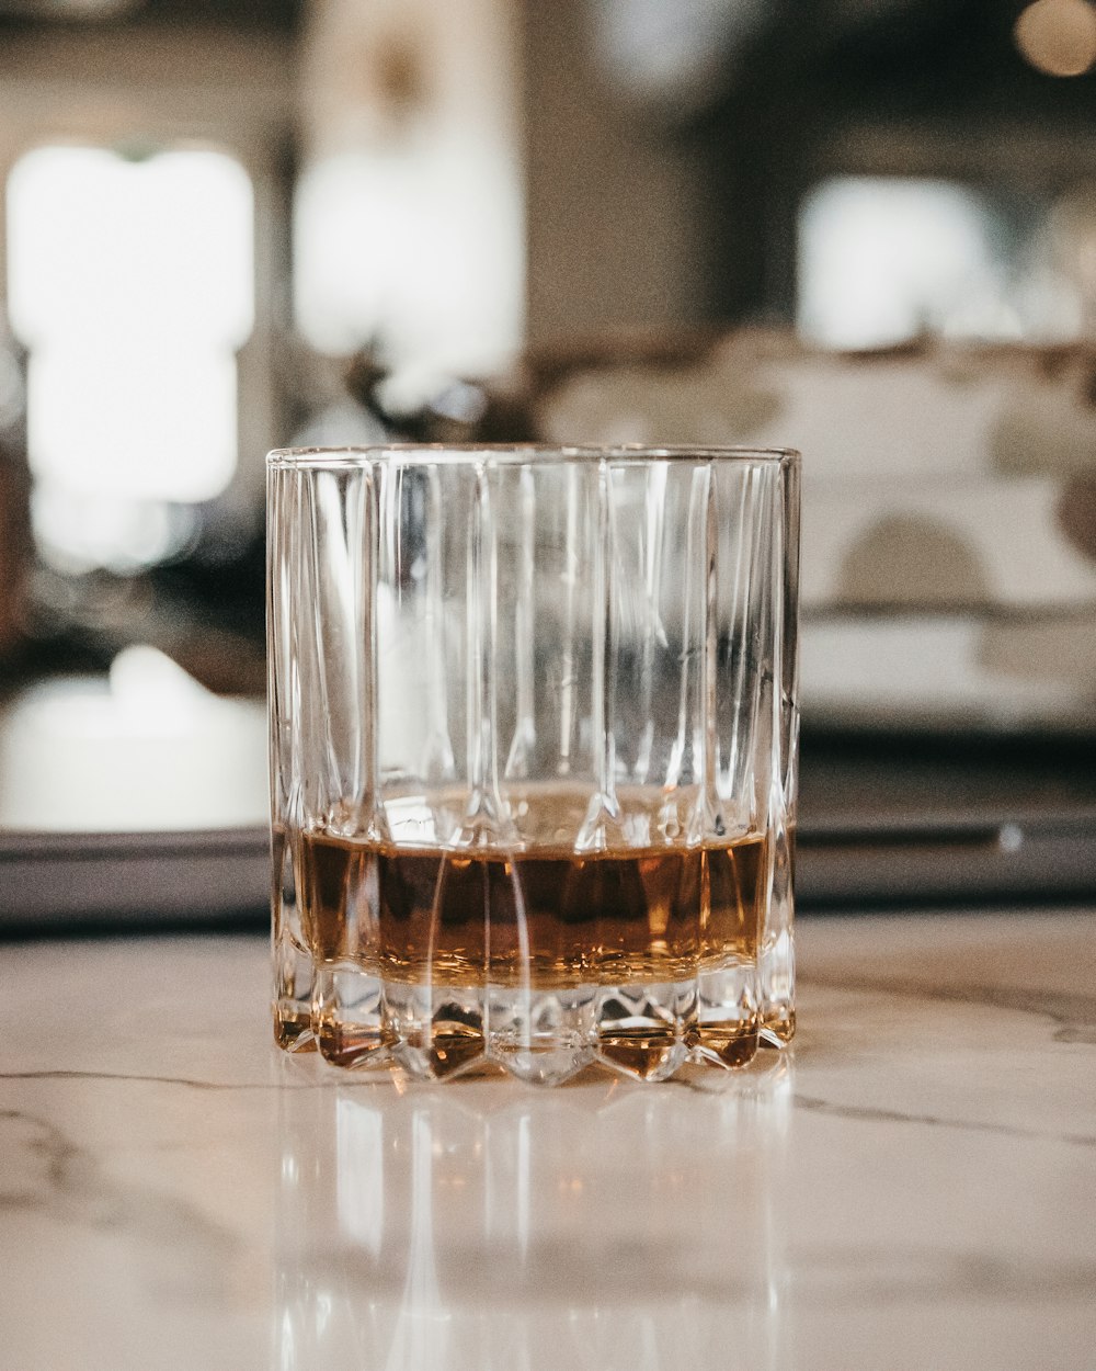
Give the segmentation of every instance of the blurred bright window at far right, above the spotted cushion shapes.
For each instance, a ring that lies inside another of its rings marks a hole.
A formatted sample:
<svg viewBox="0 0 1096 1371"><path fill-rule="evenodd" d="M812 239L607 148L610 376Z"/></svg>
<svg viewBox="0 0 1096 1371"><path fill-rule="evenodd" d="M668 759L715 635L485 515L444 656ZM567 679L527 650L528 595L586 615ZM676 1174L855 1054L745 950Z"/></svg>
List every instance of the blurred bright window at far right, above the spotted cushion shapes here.
<svg viewBox="0 0 1096 1371"><path fill-rule="evenodd" d="M799 218L799 328L827 347L918 333L1085 337L1096 314L1096 199L991 195L947 181L838 177Z"/></svg>

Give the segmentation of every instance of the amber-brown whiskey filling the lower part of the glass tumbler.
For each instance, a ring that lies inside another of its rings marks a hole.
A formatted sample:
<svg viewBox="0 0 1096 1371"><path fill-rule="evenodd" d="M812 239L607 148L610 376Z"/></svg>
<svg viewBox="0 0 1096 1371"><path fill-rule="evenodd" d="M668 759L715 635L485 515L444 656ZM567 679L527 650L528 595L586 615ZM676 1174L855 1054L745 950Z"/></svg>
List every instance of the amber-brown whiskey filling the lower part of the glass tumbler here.
<svg viewBox="0 0 1096 1371"><path fill-rule="evenodd" d="M678 982L760 934L764 839L575 853L300 835L301 921L321 961L436 984Z"/></svg>

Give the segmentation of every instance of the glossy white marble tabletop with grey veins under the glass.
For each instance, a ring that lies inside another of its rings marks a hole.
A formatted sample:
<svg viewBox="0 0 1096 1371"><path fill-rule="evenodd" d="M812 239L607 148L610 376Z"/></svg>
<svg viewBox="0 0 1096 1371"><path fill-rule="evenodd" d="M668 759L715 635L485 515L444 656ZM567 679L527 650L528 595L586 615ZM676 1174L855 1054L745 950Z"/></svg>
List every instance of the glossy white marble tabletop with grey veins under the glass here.
<svg viewBox="0 0 1096 1371"><path fill-rule="evenodd" d="M0 947L0 1367L1096 1367L1096 913L800 962L719 1093L401 1091L274 1053L259 938Z"/></svg>

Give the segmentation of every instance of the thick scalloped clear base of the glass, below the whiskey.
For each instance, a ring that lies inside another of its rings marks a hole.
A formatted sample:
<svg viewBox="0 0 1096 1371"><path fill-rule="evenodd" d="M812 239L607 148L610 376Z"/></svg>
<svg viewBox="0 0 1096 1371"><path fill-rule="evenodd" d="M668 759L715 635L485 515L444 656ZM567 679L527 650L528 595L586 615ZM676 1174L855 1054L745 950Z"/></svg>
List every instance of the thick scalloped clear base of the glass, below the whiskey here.
<svg viewBox="0 0 1096 1371"><path fill-rule="evenodd" d="M275 958L278 1046L418 1080L492 1065L547 1086L590 1067L649 1082L690 1079L697 1068L733 1073L795 1031L790 1009L759 1005L751 962L659 984L545 988L384 982L351 961L307 975L310 961L295 946L286 978L286 958Z"/></svg>

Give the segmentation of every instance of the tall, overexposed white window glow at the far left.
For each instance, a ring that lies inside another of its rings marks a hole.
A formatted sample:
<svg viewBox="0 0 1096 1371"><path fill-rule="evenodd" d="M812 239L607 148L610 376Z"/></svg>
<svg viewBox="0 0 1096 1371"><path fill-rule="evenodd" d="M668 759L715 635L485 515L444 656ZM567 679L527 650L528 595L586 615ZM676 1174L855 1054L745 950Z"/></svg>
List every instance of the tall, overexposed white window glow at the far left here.
<svg viewBox="0 0 1096 1371"><path fill-rule="evenodd" d="M10 318L30 354L36 528L60 537L62 559L155 559L155 520L137 520L140 548L115 542L134 522L126 510L212 499L236 469L251 180L214 151L134 160L45 147L12 169L7 217ZM74 500L97 521L62 517Z"/></svg>

